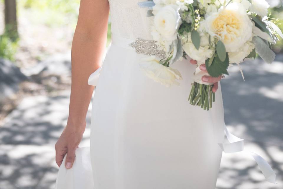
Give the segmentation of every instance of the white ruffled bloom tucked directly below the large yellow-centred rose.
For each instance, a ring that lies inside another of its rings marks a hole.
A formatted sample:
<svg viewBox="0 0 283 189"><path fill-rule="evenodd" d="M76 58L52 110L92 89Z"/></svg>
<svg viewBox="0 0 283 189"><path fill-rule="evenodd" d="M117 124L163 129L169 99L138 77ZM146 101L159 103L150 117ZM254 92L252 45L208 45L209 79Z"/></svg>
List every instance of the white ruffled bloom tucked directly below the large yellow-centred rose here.
<svg viewBox="0 0 283 189"><path fill-rule="evenodd" d="M229 63L241 63L254 50L254 43L246 42L237 52L228 53Z"/></svg>

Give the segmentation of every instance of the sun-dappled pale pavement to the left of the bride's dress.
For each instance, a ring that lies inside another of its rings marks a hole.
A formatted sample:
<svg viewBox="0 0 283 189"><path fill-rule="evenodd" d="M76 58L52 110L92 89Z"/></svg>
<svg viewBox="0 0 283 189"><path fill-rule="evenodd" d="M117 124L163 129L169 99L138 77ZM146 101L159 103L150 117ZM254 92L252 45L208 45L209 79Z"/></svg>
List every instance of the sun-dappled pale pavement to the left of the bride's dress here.
<svg viewBox="0 0 283 189"><path fill-rule="evenodd" d="M24 98L5 119L0 127L0 188L54 188L54 145L67 123L69 94ZM83 143L88 139L89 128Z"/></svg>

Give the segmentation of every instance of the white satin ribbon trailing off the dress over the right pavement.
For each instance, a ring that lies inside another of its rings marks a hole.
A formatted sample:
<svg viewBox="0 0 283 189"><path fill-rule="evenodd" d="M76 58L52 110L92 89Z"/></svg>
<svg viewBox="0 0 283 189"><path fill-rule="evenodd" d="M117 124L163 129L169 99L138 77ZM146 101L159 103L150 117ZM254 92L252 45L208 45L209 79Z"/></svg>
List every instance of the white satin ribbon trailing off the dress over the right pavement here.
<svg viewBox="0 0 283 189"><path fill-rule="evenodd" d="M261 172L263 173L265 179L270 183L276 183L276 174L270 167L270 165L264 160L260 155L251 152L251 151L244 151L244 139L238 138L233 134L229 133L226 125L225 125L225 133L229 143L218 143L221 149L225 153L233 153L233 152L244 152L246 154L251 155L255 160L256 163L259 165Z"/></svg>

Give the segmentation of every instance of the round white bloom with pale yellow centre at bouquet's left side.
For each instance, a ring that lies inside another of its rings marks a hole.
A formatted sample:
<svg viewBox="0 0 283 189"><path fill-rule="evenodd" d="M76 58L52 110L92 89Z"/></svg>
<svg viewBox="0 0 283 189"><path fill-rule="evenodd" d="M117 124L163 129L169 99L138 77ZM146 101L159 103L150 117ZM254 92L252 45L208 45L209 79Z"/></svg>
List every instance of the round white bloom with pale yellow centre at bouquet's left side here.
<svg viewBox="0 0 283 189"><path fill-rule="evenodd" d="M181 25L181 17L177 5L167 5L154 16L154 26L165 40L177 39L177 30Z"/></svg>

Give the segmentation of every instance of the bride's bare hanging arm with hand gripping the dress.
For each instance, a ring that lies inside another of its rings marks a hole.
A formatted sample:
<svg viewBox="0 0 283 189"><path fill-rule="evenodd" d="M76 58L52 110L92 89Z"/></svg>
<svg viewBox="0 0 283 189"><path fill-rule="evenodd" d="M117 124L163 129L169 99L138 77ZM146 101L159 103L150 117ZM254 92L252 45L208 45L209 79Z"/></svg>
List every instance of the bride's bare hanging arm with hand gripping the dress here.
<svg viewBox="0 0 283 189"><path fill-rule="evenodd" d="M75 149L85 130L85 117L93 93L88 77L101 66L106 46L108 0L81 0L72 43L72 86L68 123L55 145L56 163L61 165L68 152L67 168L72 167Z"/></svg>

